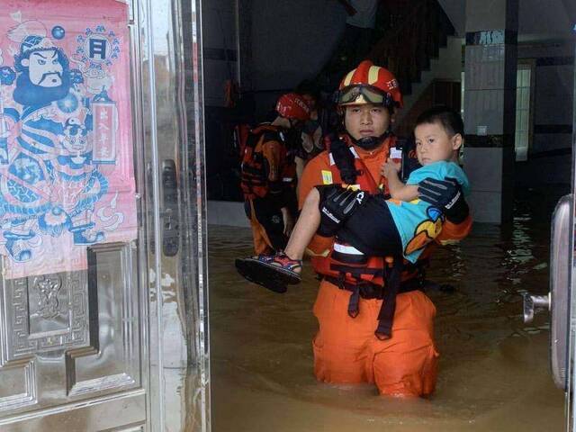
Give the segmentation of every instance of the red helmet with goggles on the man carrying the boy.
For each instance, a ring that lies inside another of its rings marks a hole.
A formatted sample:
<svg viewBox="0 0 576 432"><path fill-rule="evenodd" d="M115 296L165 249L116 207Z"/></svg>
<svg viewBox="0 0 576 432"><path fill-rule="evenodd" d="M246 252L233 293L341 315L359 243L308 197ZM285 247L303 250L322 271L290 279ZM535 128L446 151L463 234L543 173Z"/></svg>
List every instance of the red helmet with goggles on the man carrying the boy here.
<svg viewBox="0 0 576 432"><path fill-rule="evenodd" d="M396 77L384 67L374 66L370 60L364 60L356 69L344 76L338 88L340 106L364 103L392 102L402 107L402 94Z"/></svg>

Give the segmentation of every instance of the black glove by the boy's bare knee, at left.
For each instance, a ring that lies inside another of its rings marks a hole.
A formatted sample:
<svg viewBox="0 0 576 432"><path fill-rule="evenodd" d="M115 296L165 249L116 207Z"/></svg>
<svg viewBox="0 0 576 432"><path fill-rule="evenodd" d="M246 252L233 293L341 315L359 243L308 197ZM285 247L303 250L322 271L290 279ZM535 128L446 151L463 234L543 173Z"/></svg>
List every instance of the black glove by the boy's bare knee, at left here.
<svg viewBox="0 0 576 432"><path fill-rule="evenodd" d="M339 184L316 186L320 192L320 227L318 234L332 237L340 226L364 202L365 192L344 189Z"/></svg>

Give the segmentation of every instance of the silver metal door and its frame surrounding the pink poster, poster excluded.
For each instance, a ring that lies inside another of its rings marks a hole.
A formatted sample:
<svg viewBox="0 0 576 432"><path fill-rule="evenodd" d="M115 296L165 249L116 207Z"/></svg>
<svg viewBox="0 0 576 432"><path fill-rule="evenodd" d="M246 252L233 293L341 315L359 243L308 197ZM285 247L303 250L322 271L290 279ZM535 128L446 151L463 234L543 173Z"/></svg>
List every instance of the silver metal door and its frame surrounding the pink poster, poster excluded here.
<svg viewBox="0 0 576 432"><path fill-rule="evenodd" d="M42 4L50 1L57 0ZM130 52L137 238L118 241L111 231L108 241L93 242L82 257L85 270L13 277L4 258L3 431L210 428L200 2L107 1L128 10L122 25L130 40L122 47ZM52 35L58 44L64 33ZM94 52L102 49L96 42ZM94 115L109 119L106 101L96 102ZM103 130L94 139L103 139ZM109 156L101 152L99 163ZM123 174L128 184L132 173ZM14 256L22 250L12 246ZM58 257L66 261L68 252Z"/></svg>

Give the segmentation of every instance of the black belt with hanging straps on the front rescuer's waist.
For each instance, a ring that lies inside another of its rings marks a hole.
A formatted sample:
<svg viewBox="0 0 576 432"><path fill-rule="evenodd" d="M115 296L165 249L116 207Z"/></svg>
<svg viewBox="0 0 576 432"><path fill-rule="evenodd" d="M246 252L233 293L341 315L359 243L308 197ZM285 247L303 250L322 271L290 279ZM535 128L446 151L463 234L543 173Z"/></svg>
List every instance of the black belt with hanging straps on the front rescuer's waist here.
<svg viewBox="0 0 576 432"><path fill-rule="evenodd" d="M344 278L334 276L324 276L324 279L330 284L335 284L341 290L347 290L352 293L348 302L348 315L356 318L359 312L360 297L363 299L383 300L382 307L378 313L378 328L374 332L376 338L388 339L392 337L392 321L394 320L394 311L396 310L396 295L400 293L409 293L410 291L421 290L423 288L422 280L418 277L401 282L401 260L395 264L386 278L386 287L371 282L359 282L350 284ZM397 261L397 262L398 262Z"/></svg>

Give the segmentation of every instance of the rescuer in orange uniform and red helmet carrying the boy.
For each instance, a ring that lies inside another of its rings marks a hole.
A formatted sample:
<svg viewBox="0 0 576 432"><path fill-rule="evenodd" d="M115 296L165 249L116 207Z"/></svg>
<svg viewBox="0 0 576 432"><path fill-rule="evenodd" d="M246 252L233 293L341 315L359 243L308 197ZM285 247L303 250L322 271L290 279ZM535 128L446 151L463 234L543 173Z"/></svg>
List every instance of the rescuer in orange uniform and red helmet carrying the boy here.
<svg viewBox="0 0 576 432"><path fill-rule="evenodd" d="M299 186L301 205L319 184L353 184L370 193L387 190L381 166L389 157L399 157L390 129L395 110L402 106L398 82L387 69L365 60L342 80L338 106L346 132L305 167ZM472 219L455 182L427 179L419 184L419 193L420 199L445 209L437 243L468 234ZM427 247L419 263L433 247ZM318 380L375 383L381 394L391 396L432 393L437 381L436 308L421 291L421 266L404 262L401 273L395 273L398 263L350 255L347 245L334 238L316 236L308 249L314 270L322 277L313 310L320 325L313 340ZM381 338L378 329L386 314L382 299L388 299L391 286L398 292L393 297L393 320L385 323L392 325L392 337Z"/></svg>

